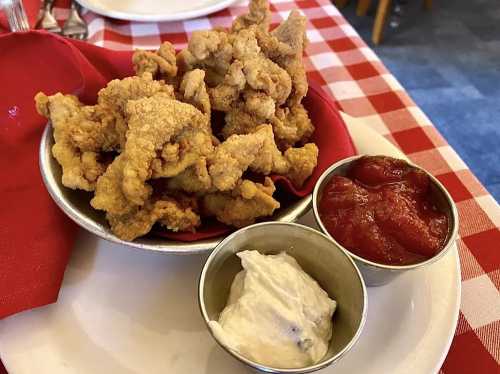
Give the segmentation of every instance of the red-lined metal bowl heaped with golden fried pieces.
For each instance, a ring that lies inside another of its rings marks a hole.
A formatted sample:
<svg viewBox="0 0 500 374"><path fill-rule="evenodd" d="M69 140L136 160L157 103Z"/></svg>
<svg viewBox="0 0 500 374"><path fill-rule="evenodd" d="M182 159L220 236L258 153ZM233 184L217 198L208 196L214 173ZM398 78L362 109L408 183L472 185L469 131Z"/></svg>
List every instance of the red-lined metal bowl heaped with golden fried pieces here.
<svg viewBox="0 0 500 374"><path fill-rule="evenodd" d="M318 177L354 148L331 99L309 87L305 17L292 11L269 31L267 3L254 3L184 50L136 51L136 75L109 82L95 105L36 96L50 124L41 172L69 217L108 240L184 253L307 211Z"/></svg>

